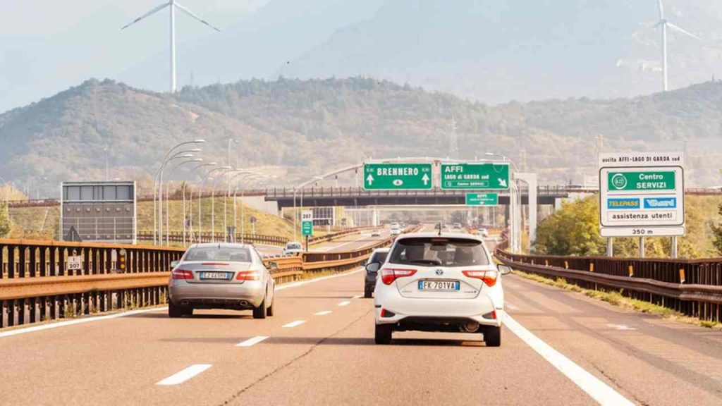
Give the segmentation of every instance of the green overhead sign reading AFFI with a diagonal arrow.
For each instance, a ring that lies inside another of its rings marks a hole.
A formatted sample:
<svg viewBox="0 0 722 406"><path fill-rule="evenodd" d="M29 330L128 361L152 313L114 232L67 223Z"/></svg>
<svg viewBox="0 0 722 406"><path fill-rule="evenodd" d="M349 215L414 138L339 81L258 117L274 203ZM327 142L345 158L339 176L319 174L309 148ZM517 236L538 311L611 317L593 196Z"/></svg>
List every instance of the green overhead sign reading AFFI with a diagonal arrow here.
<svg viewBox="0 0 722 406"><path fill-rule="evenodd" d="M509 164L443 163L441 189L509 189Z"/></svg>

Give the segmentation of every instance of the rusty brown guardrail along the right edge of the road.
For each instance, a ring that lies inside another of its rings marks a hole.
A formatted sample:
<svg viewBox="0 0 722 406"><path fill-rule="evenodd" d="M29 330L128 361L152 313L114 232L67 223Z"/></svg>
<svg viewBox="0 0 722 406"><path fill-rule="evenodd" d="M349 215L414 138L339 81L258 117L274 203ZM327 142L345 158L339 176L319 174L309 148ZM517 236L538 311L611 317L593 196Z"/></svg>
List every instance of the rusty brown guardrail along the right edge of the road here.
<svg viewBox="0 0 722 406"><path fill-rule="evenodd" d="M617 259L541 256L496 251L513 269L557 278L592 290L620 290L631 298L687 316L722 321L722 258Z"/></svg>

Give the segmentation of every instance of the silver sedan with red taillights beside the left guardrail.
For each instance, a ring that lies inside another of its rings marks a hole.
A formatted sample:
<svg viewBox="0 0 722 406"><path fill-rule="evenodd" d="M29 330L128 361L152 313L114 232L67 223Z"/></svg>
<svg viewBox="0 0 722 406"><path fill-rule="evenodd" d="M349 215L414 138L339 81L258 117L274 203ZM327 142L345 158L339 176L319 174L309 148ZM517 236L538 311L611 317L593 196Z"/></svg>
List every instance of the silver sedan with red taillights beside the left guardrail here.
<svg viewBox="0 0 722 406"><path fill-rule="evenodd" d="M196 308L252 310L253 319L274 314L274 279L250 244L194 244L171 265L168 316L172 318L191 316Z"/></svg>

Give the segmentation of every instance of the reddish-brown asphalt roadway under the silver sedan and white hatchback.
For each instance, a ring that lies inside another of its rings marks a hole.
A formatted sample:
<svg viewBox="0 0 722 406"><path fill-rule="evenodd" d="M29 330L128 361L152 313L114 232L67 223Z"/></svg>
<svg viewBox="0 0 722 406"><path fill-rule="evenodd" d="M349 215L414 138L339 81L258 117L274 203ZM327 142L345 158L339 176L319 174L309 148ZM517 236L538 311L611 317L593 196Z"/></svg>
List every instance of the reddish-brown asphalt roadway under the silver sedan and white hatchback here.
<svg viewBox="0 0 722 406"><path fill-rule="evenodd" d="M498 348L424 332L374 345L361 272L281 288L266 320L155 310L0 334L0 404L590 405L605 387L640 405L722 404L719 332L515 275L504 284L516 327ZM540 355L519 325L553 350Z"/></svg>

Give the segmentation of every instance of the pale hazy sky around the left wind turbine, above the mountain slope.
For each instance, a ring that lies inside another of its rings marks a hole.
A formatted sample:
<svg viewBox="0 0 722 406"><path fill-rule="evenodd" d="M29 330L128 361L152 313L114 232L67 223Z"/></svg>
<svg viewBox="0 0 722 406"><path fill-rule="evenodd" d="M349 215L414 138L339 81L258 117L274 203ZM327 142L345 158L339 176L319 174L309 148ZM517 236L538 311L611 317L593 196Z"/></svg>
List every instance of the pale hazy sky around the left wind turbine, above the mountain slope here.
<svg viewBox="0 0 722 406"><path fill-rule="evenodd" d="M182 0L221 29L267 0ZM168 12L121 32L162 0L3 0L0 6L0 113L54 95L90 77L116 75L168 50ZM179 43L214 31L176 14Z"/></svg>

